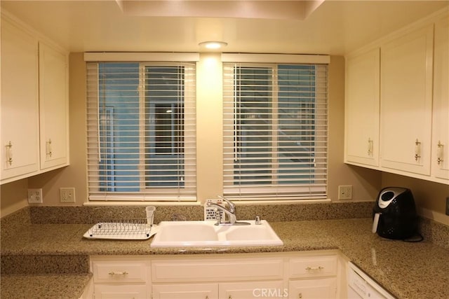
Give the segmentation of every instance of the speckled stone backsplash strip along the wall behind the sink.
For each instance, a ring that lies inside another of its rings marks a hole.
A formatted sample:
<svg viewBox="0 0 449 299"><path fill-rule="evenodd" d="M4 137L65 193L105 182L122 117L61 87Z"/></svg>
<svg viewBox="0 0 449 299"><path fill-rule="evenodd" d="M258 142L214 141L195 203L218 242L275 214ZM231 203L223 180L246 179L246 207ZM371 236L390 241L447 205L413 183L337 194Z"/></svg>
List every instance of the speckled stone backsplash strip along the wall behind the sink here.
<svg viewBox="0 0 449 299"><path fill-rule="evenodd" d="M373 202L329 202L311 204L239 204L237 219L255 216L270 222L319 221L345 218L370 218ZM156 205L154 223L173 218L203 220L203 206ZM1 218L1 236L11 235L27 224L82 224L114 219L145 218L145 207L25 207ZM449 249L449 226L428 218L420 218L420 232L424 239Z"/></svg>

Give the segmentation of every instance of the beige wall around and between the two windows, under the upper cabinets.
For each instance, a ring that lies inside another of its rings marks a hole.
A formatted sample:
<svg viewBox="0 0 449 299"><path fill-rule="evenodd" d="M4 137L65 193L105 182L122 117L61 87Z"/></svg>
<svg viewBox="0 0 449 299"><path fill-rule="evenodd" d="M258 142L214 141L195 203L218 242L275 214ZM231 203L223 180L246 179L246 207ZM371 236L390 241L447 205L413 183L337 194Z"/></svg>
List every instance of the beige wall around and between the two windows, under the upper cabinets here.
<svg viewBox="0 0 449 299"><path fill-rule="evenodd" d="M203 69L220 68L221 64L213 60L214 55L202 55L199 63L199 85L210 88L199 89L197 94L198 116L198 181L199 199L215 196L222 187L220 174L221 148L210 148L220 144L222 123L220 110L221 74L215 77L202 72ZM86 74L82 53L70 55L70 163L69 167L53 172L2 185L1 215L10 214L27 205L27 188L43 188L43 204L62 205L59 202L59 188L75 187L76 203L86 202ZM331 200L337 199L339 185L354 186L354 200L374 200L380 188L384 186L405 186L413 190L420 208L444 214L445 197L449 196L449 186L412 179L395 174L380 173L375 170L345 165L343 163L344 139L344 59L331 57L329 69L329 144L328 144L328 194ZM215 139L206 138L210 132ZM215 165L208 167L207 165ZM217 191L216 191L217 190ZM70 204L64 204L70 205ZM427 215L431 216L431 215Z"/></svg>

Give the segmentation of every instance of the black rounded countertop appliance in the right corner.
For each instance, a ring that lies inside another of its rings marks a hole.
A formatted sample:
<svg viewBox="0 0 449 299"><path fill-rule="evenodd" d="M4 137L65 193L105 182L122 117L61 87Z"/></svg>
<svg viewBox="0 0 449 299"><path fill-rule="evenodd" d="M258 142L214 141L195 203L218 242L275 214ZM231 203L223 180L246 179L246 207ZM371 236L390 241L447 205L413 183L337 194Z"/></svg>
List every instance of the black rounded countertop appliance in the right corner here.
<svg viewBox="0 0 449 299"><path fill-rule="evenodd" d="M410 189L380 190L373 209L373 232L388 239L407 239L417 233L415 200Z"/></svg>

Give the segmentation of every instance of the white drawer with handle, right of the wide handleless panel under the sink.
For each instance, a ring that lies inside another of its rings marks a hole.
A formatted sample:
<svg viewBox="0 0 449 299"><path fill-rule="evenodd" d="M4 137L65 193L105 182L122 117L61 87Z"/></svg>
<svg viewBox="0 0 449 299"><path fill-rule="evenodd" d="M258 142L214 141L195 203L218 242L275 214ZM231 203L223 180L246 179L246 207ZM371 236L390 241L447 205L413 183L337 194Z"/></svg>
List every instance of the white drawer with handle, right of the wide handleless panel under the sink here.
<svg viewBox="0 0 449 299"><path fill-rule="evenodd" d="M337 256L291 258L289 278L326 277L337 275Z"/></svg>

